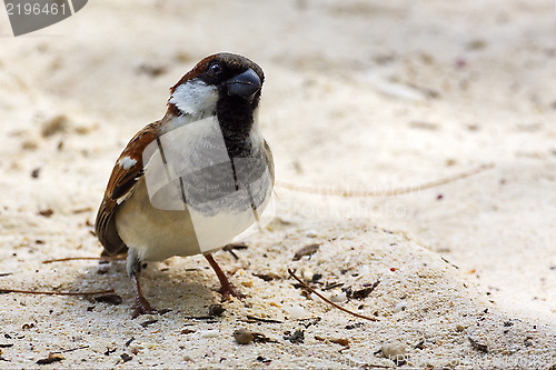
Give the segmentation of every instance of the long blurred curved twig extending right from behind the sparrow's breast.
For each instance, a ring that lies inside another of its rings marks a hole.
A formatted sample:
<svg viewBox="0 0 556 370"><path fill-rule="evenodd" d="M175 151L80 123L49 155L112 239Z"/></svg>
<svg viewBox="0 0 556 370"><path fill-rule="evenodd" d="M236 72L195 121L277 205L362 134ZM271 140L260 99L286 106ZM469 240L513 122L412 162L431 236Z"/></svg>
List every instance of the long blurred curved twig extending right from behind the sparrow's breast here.
<svg viewBox="0 0 556 370"><path fill-rule="evenodd" d="M394 196L400 196L400 194L406 194L410 192L416 192L416 191L421 191L425 189L430 189L430 188L436 188L449 182L454 182L456 180L465 179L470 176L480 173L483 171L493 169L495 167L494 163L487 163L483 164L476 169L466 171L466 172L460 172L444 179L438 179L435 181L430 182L425 182L420 186L416 187L407 187L407 188L396 188L396 189L383 189L383 190L359 190L359 191L354 191L354 190L347 190L347 189L341 189L341 188L315 188L315 187L308 187L308 186L298 186L295 183L290 182L282 182L282 181L277 181L276 186L281 187L288 190L292 191L298 191L298 192L306 192L306 193L312 193L312 194L321 194L321 196L334 196L334 197L346 197L346 198L365 198L365 197L394 197Z"/></svg>

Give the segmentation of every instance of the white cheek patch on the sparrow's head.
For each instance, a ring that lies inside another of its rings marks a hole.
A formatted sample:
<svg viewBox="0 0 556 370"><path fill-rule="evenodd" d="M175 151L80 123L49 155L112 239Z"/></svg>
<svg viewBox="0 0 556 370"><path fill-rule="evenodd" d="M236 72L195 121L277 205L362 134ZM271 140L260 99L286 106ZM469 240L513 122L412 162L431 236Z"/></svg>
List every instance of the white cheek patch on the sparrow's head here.
<svg viewBox="0 0 556 370"><path fill-rule="evenodd" d="M170 103L173 103L183 114L200 119L214 113L217 101L217 88L199 79L180 84L170 98Z"/></svg>

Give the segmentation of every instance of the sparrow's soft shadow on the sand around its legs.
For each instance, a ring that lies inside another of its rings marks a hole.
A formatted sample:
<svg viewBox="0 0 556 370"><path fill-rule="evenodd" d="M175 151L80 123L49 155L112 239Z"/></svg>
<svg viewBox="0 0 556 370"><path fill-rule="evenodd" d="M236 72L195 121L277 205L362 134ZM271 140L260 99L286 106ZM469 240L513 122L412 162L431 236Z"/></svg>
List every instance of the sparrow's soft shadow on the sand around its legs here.
<svg viewBox="0 0 556 370"><path fill-rule="evenodd" d="M211 288L198 282L205 276L205 269L179 269L176 267L165 267L159 263L150 263L141 271L140 282L142 293L151 306L158 310L170 310L185 316L207 316L208 307L220 302L220 296ZM218 279L215 276L215 283ZM197 280L197 281L195 281ZM98 302L93 297L89 298L95 307L106 311L110 304L115 311L126 310L129 316L135 309L136 296L131 279L126 273L126 261L93 262L85 268L82 273L76 277L76 287L82 287L83 291L113 289L113 294L121 297L121 304ZM101 296L101 294L99 294ZM120 312L121 313L121 312Z"/></svg>

